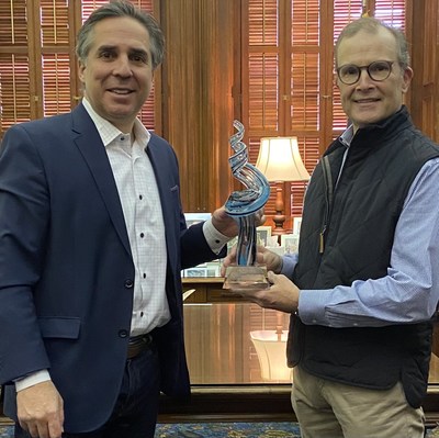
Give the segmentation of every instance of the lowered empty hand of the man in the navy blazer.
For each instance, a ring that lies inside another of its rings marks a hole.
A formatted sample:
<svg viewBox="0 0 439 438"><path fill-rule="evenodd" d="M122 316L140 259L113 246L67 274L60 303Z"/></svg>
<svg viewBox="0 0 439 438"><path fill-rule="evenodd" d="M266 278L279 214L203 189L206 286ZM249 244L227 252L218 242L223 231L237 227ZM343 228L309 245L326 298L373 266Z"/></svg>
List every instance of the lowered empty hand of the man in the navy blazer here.
<svg viewBox="0 0 439 438"><path fill-rule="evenodd" d="M63 398L52 381L37 383L16 393L20 426L33 438L61 438Z"/></svg>

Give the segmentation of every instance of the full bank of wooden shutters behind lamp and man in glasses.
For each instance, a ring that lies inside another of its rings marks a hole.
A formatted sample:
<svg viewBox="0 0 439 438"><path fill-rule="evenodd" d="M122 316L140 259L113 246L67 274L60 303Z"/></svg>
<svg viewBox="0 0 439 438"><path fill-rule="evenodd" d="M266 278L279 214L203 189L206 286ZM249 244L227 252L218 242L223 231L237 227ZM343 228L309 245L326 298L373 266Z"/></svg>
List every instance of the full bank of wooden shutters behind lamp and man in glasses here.
<svg viewBox="0 0 439 438"><path fill-rule="evenodd" d="M243 93L243 123L251 162L260 137L296 135L312 172L346 128L334 81L334 44L341 29L364 12L404 27L405 0L243 1L243 90L248 90ZM301 215L304 187L284 184L286 214ZM274 214L274 190L266 212Z"/></svg>

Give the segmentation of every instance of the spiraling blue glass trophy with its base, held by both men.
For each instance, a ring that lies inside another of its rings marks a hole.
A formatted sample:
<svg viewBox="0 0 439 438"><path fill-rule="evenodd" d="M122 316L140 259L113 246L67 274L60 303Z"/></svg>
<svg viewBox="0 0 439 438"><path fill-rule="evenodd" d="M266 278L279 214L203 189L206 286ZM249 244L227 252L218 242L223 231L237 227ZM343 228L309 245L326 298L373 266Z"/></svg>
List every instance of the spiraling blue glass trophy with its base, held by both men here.
<svg viewBox="0 0 439 438"><path fill-rule="evenodd" d="M236 246L236 266L227 267L224 289L264 289L269 287L267 269L256 262L257 234L256 213L263 207L270 196L270 184L263 173L248 162L247 145L241 142L244 125L234 121L237 132L229 144L234 155L228 158L233 176L245 190L235 191L226 201L226 212L239 224Z"/></svg>

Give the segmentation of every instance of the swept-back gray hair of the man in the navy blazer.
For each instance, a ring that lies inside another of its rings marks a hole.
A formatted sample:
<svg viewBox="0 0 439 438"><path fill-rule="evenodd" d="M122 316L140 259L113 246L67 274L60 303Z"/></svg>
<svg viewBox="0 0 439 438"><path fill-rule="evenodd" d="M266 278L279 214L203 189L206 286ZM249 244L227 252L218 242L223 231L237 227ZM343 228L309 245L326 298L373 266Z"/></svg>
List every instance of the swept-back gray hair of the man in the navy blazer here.
<svg viewBox="0 0 439 438"><path fill-rule="evenodd" d="M151 42L153 70L155 70L164 60L165 36L153 15L134 7L134 4L127 0L112 0L90 14L78 32L78 43L76 46L78 59L86 64L92 45L93 29L97 23L109 18L124 16L137 20L148 31Z"/></svg>

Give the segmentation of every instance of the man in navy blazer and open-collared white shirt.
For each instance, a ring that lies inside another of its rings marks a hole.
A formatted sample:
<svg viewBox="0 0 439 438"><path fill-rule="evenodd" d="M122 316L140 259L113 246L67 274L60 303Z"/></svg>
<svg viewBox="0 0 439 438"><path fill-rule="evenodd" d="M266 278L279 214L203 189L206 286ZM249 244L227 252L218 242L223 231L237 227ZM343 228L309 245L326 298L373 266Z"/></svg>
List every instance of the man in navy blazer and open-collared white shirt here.
<svg viewBox="0 0 439 438"><path fill-rule="evenodd" d="M0 151L0 383L15 437L148 438L189 394L181 269L237 234L187 229L176 155L136 119L164 56L130 2L78 35L82 103L11 127Z"/></svg>

